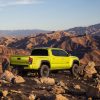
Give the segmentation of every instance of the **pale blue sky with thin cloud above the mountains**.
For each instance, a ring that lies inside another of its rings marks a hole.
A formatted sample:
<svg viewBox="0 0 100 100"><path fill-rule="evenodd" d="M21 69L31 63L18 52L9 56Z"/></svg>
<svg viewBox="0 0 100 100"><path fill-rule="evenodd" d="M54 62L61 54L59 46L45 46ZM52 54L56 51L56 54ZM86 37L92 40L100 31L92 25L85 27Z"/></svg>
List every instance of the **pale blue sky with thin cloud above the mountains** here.
<svg viewBox="0 0 100 100"><path fill-rule="evenodd" d="M65 30L100 23L100 0L0 0L0 30Z"/></svg>

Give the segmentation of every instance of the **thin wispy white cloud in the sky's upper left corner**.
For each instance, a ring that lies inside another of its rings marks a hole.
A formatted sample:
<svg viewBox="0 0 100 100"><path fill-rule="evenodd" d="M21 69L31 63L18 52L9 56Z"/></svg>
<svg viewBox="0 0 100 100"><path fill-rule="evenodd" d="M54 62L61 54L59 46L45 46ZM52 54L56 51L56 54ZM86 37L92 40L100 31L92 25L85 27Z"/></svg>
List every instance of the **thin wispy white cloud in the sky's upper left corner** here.
<svg viewBox="0 0 100 100"><path fill-rule="evenodd" d="M15 5L32 5L43 3L43 0L1 0L0 8L15 6Z"/></svg>

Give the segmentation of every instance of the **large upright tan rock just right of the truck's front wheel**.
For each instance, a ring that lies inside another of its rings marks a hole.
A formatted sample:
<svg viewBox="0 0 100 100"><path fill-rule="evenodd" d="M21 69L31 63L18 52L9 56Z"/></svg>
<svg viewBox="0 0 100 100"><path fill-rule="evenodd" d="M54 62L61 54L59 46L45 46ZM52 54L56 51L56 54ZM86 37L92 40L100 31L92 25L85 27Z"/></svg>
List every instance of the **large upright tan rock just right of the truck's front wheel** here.
<svg viewBox="0 0 100 100"><path fill-rule="evenodd" d="M97 71L95 69L95 63L94 62L89 62L88 65L84 69L85 71L85 78L92 78L93 74L96 74Z"/></svg>

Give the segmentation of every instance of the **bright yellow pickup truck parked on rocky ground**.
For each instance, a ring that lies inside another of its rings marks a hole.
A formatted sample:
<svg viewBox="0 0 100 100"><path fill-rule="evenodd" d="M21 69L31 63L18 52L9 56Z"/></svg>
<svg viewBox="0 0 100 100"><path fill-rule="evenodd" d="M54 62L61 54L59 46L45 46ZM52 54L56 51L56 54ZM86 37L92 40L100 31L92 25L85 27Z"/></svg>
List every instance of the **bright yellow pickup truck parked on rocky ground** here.
<svg viewBox="0 0 100 100"><path fill-rule="evenodd" d="M76 76L79 58L60 48L35 48L29 56L11 56L10 64L16 72L37 71L40 77L48 77L51 71L66 69Z"/></svg>

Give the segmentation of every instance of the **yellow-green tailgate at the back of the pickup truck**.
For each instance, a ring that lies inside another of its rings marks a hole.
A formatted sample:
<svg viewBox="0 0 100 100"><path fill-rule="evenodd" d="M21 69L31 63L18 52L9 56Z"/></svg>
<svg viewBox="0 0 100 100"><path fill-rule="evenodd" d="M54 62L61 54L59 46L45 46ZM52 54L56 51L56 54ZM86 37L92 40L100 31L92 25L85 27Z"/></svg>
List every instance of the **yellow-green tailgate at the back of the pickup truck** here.
<svg viewBox="0 0 100 100"><path fill-rule="evenodd" d="M12 65L29 65L29 56L11 56L10 64Z"/></svg>

